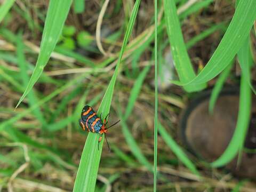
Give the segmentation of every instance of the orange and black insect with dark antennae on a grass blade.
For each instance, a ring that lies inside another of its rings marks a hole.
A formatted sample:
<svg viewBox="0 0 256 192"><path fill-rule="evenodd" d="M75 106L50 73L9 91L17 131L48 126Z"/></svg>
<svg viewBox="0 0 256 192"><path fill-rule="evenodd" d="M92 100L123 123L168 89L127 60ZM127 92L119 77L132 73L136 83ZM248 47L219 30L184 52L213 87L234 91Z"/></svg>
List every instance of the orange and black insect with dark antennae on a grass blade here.
<svg viewBox="0 0 256 192"><path fill-rule="evenodd" d="M106 127L106 125L108 124L108 122L106 122L107 116L104 118L104 121L102 123L101 118L94 112L92 107L84 106L82 113L81 113L81 119L79 119L79 124L84 131L99 133L100 134L99 144L100 144L100 141L102 139L102 134L107 133L108 129L111 126L114 126L115 124L117 124L120 121L119 120L116 123L114 123L113 125ZM107 138L106 138L106 141L107 141ZM108 141L107 141L107 144L108 144ZM98 145L98 148L99 148L99 145ZM109 145L108 145L108 149L110 150Z"/></svg>

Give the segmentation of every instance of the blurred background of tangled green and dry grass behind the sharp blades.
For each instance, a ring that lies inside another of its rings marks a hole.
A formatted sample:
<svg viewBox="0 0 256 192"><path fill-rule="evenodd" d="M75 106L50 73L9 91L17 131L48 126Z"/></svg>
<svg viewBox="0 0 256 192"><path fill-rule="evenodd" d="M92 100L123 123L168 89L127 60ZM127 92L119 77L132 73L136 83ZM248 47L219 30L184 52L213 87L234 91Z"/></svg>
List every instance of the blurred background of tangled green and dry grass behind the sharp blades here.
<svg viewBox="0 0 256 192"><path fill-rule="evenodd" d="M9 1L10 4L11 1ZM14 2L14 1L13 1ZM218 46L235 11L231 0L177 0L183 37L195 71L200 71ZM7 191L71 191L87 132L79 127L83 106L95 111L114 74L134 2L110 1L96 28L103 1L71 5L58 44L43 74L20 106L37 61L49 1L17 0L0 27L0 189ZM158 21L158 119L181 147L178 124L193 93L170 80L177 79L170 44L163 25L162 2ZM141 1L117 77L109 122L122 111L126 124L111 127L104 145L95 191L152 191L154 159L154 2ZM255 37L253 39L255 43ZM241 70L231 69L228 85L239 84ZM255 75L254 75L255 77ZM215 79L208 83L215 84ZM140 93L134 106L130 93ZM131 98L130 98L131 99ZM119 112L118 112L119 111ZM161 130L163 130L162 128ZM163 133L163 132L162 132ZM167 138L167 140L170 138ZM134 146L135 145L135 146ZM243 180L223 170L209 169L187 153L204 175L204 182L184 166L162 137L158 137L158 169L164 178L159 191L238 191ZM151 163L151 164L150 164ZM190 169L191 170L191 169ZM256 190L255 184L243 191ZM253 187L254 186L254 187Z"/></svg>

